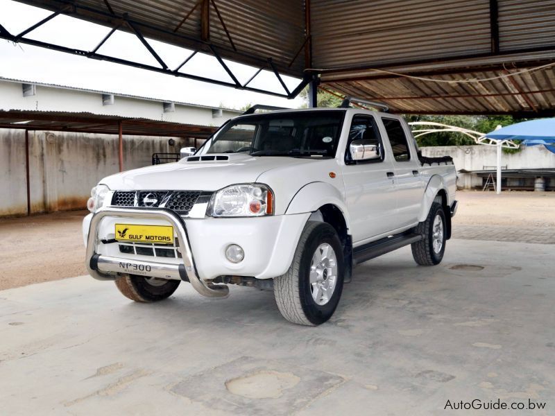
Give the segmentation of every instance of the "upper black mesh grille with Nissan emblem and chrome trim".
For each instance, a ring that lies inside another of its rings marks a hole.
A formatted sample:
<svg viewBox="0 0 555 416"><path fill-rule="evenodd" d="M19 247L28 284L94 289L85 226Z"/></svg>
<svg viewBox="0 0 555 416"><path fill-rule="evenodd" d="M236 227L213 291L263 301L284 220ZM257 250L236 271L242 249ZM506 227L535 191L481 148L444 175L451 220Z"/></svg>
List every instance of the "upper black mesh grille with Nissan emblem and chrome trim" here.
<svg viewBox="0 0 555 416"><path fill-rule="evenodd" d="M169 208L182 216L187 216L202 191L115 191L112 205L115 207Z"/></svg>

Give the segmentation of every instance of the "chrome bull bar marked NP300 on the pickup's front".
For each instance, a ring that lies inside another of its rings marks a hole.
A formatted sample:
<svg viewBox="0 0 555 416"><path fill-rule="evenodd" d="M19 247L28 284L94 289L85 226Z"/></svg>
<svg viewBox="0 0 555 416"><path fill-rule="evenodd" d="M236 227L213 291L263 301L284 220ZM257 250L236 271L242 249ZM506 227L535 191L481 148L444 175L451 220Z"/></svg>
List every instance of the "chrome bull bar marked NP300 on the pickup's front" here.
<svg viewBox="0 0 555 416"><path fill-rule="evenodd" d="M109 257L97 254L96 245L101 243L98 236L99 224L105 216L117 218L146 218L165 220L171 225L178 235L180 251L183 263L157 263L155 261L143 261L119 257ZM182 279L189 281L195 290L207 297L225 297L229 294L229 288L225 285L206 283L198 277L193 253L189 245L187 229L182 218L170 209L149 208L117 208L105 207L96 211L89 225L89 236L87 239L87 254L85 255L85 266L89 274L99 280L115 280L117 275L110 272L126 273L131 275L144 275L158 277L161 279Z"/></svg>

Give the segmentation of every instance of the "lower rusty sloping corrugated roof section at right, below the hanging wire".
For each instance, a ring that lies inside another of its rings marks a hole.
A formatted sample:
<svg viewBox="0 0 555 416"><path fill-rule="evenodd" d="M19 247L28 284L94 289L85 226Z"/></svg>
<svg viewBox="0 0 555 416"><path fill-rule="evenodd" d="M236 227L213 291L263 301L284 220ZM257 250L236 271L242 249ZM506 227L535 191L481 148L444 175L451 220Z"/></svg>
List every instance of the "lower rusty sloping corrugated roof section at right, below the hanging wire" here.
<svg viewBox="0 0 555 416"><path fill-rule="evenodd" d="M344 95L372 97L384 101L392 112L413 114L523 114L546 115L555 105L555 66L506 76L522 71L460 71L422 76L435 83L400 76L375 76L360 80L330 81L324 88ZM484 82L456 83L461 80L497 78Z"/></svg>

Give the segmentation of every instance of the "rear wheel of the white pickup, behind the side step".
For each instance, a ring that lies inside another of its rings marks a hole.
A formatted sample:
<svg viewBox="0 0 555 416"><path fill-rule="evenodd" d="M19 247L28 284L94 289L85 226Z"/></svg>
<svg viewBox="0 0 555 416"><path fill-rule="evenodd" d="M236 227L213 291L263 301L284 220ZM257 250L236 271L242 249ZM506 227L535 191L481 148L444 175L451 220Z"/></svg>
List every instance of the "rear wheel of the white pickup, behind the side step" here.
<svg viewBox="0 0 555 416"><path fill-rule="evenodd" d="M446 225L442 205L438 202L432 203L426 220L418 223L414 229L416 234L422 234L422 240L411 244L412 257L420 266L435 266L441 263L445 253Z"/></svg>

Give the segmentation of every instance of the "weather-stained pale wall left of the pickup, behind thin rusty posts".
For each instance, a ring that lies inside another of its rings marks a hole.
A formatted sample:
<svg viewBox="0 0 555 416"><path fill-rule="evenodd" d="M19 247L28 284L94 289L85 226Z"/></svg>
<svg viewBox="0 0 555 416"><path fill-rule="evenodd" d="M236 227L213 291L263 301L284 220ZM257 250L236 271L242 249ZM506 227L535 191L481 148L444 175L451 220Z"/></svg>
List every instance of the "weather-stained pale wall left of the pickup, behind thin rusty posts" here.
<svg viewBox="0 0 555 416"><path fill-rule="evenodd" d="M123 136L126 170L151 165L153 153L178 153L185 139ZM119 171L116 135L29 132L31 212L85 209L99 180ZM0 216L27 213L25 133L0 129Z"/></svg>

